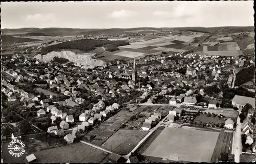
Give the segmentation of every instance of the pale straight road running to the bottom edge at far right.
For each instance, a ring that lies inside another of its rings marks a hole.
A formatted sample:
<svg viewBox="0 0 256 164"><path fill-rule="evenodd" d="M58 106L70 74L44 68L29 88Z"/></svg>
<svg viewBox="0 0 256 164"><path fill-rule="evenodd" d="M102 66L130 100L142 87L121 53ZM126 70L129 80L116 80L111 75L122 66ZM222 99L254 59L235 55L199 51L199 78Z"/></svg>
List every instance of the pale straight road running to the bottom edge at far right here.
<svg viewBox="0 0 256 164"><path fill-rule="evenodd" d="M234 140L233 140L234 162L239 162L240 154L242 154L241 129L242 129L242 123L240 123L240 118L238 117L237 128L236 128L236 131L234 132Z"/></svg>

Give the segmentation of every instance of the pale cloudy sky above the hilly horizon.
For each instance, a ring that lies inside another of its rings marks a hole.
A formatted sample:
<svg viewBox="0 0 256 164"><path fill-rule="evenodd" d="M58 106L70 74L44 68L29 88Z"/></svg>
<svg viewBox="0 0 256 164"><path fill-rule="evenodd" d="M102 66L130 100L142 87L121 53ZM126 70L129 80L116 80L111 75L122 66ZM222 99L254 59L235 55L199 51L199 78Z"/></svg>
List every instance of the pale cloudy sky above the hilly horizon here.
<svg viewBox="0 0 256 164"><path fill-rule="evenodd" d="M253 1L4 2L1 29L253 26Z"/></svg>

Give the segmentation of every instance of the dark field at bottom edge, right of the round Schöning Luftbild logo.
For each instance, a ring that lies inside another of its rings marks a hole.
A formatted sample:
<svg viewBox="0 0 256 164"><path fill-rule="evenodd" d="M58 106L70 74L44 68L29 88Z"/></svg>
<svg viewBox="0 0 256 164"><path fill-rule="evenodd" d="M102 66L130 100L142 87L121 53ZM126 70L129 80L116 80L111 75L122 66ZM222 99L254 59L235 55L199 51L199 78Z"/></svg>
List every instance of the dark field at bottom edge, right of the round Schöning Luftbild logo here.
<svg viewBox="0 0 256 164"><path fill-rule="evenodd" d="M34 152L39 163L100 163L108 153L82 143Z"/></svg>

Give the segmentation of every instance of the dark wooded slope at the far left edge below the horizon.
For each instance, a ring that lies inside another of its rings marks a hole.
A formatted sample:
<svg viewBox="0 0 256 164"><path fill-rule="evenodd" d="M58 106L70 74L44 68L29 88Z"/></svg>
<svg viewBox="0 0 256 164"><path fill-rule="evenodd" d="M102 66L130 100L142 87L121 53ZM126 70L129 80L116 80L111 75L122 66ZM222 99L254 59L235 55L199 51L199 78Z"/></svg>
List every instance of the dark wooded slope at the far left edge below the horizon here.
<svg viewBox="0 0 256 164"><path fill-rule="evenodd" d="M36 42L42 41L39 39L30 39L30 38L16 38L10 35L2 35L2 44L13 44L13 43L23 43L23 42Z"/></svg>

